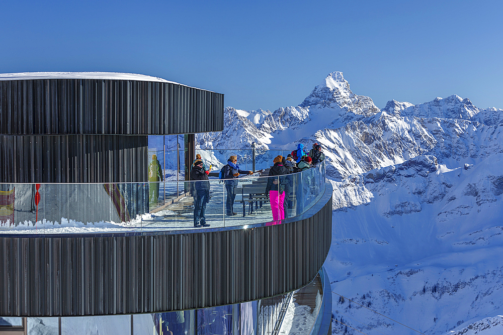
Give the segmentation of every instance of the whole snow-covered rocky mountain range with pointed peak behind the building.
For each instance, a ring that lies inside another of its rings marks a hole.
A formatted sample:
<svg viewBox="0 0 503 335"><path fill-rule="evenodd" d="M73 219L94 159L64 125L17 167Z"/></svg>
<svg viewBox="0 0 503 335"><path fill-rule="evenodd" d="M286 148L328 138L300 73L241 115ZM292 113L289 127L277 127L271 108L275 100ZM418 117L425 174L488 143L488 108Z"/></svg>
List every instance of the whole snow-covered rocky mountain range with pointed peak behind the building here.
<svg viewBox="0 0 503 335"><path fill-rule="evenodd" d="M228 107L225 131L197 140L323 147L334 187L325 267L346 297L333 296L334 331L492 334L503 332L501 125L502 109L457 95L379 109L333 72L298 106Z"/></svg>

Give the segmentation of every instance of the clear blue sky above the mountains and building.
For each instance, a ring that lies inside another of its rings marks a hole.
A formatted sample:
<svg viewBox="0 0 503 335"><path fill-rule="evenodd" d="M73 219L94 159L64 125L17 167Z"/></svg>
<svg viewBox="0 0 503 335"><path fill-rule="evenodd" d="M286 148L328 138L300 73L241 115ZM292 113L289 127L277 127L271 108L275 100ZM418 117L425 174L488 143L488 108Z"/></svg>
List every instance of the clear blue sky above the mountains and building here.
<svg viewBox="0 0 503 335"><path fill-rule="evenodd" d="M141 73L297 105L330 72L384 107L458 94L503 108L501 1L0 0L0 72Z"/></svg>

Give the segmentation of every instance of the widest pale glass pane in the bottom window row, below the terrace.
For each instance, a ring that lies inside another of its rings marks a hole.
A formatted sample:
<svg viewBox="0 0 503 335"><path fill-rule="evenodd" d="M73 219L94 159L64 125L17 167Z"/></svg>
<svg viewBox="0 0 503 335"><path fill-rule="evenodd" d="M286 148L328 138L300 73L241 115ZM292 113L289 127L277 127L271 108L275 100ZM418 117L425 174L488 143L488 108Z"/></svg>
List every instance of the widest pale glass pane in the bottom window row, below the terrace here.
<svg viewBox="0 0 503 335"><path fill-rule="evenodd" d="M130 334L131 315L61 318L61 335Z"/></svg>

